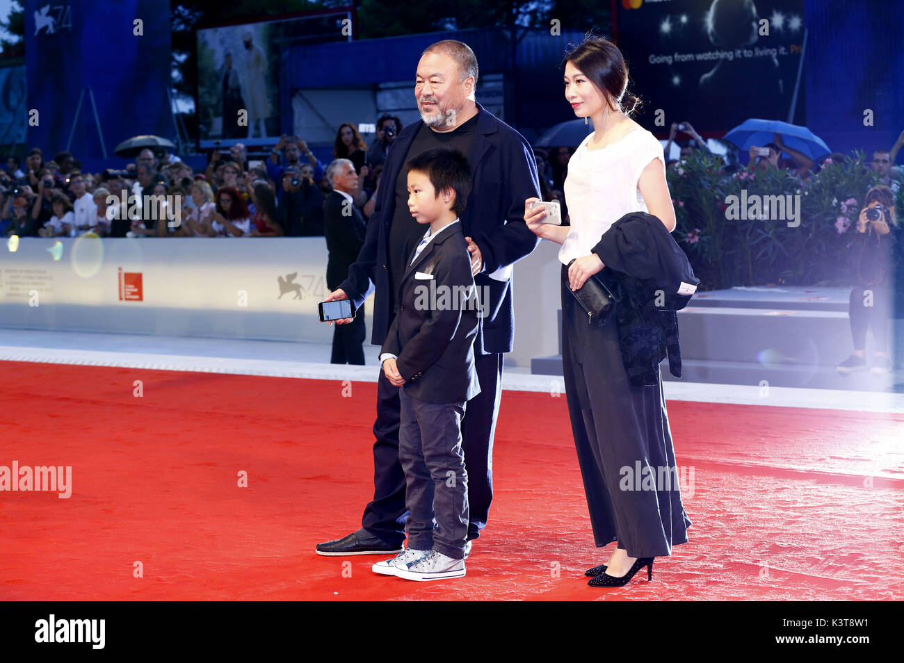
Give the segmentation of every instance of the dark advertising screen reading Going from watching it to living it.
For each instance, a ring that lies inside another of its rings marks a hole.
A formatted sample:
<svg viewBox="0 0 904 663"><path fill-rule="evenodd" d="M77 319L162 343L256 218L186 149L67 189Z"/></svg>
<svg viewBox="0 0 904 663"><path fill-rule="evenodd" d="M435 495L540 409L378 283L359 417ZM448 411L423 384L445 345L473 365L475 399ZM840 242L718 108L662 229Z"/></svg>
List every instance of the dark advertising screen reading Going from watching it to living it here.
<svg viewBox="0 0 904 663"><path fill-rule="evenodd" d="M645 100L640 120L723 132L787 121L804 51L804 0L620 0L618 47ZM804 83L794 102L803 122Z"/></svg>

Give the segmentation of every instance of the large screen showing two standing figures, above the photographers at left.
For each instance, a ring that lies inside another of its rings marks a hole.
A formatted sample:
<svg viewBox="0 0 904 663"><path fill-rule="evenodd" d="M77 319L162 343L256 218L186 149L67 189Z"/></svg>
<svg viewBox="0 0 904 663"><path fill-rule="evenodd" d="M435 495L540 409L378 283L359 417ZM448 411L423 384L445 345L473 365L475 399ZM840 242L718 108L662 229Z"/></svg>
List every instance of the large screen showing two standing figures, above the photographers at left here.
<svg viewBox="0 0 904 663"><path fill-rule="evenodd" d="M342 10L197 31L201 147L273 142L280 135L279 63L288 46L347 41Z"/></svg>

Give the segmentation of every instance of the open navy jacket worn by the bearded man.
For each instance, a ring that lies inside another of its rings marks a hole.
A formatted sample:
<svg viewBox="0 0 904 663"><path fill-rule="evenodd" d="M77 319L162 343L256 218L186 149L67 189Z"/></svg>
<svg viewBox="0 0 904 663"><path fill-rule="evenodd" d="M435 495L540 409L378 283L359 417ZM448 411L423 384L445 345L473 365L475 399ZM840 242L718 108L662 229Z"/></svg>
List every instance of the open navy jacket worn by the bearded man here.
<svg viewBox="0 0 904 663"><path fill-rule="evenodd" d="M475 351L511 352L514 312L512 281L498 281L489 274L527 256L540 241L524 223L524 199L540 197L537 163L531 145L523 135L477 104L477 130L467 161L474 184L460 215L463 232L473 238L484 257L485 268L475 276L477 292L488 294L485 316L480 319ZM389 304L391 279L388 272L387 243L395 211L395 187L408 151L422 121L401 130L386 155L383 186L367 224L367 237L358 259L349 268L348 278L339 285L356 308L376 288L373 303L371 342L382 345L392 322Z"/></svg>

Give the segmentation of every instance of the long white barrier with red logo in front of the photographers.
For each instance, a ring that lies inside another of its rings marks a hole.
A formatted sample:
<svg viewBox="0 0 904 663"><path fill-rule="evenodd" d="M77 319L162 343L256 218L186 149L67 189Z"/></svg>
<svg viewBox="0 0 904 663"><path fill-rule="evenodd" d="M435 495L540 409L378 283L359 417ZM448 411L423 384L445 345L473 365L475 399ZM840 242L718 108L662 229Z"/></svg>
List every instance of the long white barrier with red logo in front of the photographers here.
<svg viewBox="0 0 904 663"><path fill-rule="evenodd" d="M17 238L0 326L330 342L324 238ZM14 250L12 250L14 249ZM368 342L372 297L365 304Z"/></svg>

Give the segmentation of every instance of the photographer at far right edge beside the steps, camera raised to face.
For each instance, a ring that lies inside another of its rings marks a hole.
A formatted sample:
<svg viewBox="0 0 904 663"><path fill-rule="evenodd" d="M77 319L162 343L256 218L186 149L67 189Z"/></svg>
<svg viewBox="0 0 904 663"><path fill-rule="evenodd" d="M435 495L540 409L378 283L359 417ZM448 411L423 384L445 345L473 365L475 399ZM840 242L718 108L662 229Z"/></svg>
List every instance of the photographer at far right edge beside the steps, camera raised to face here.
<svg viewBox="0 0 904 663"><path fill-rule="evenodd" d="M872 330L875 353L871 373L883 375L891 370L888 328L904 231L895 218L895 198L890 187L873 187L866 194L865 204L849 245L855 279L848 305L853 354L838 365L842 375L867 369L867 329Z"/></svg>

